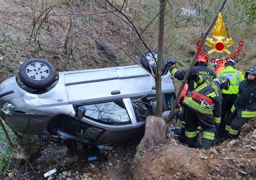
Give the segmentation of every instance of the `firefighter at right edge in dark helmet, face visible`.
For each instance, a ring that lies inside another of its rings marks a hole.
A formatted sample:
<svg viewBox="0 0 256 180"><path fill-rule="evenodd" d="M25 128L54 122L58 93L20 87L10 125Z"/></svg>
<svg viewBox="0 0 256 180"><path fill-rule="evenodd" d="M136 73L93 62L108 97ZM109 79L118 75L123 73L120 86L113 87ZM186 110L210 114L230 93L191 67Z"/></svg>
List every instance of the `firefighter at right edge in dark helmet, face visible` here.
<svg viewBox="0 0 256 180"><path fill-rule="evenodd" d="M235 100L225 127L225 139L237 138L241 127L256 117L256 66L246 71L246 80L239 85L239 96Z"/></svg>

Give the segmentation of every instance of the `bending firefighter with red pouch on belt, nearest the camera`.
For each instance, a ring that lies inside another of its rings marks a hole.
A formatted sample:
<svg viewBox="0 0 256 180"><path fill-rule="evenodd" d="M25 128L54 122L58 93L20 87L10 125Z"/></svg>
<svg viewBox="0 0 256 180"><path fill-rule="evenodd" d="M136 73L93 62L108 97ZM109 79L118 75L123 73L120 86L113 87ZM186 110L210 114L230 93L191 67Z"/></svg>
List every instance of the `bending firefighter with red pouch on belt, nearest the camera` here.
<svg viewBox="0 0 256 180"><path fill-rule="evenodd" d="M202 148L213 146L216 121L221 117L222 94L221 89L228 89L230 81L222 76L212 80L199 74L192 74L199 86L191 91L183 101L185 105L185 144L194 148L198 137L198 126L204 128Z"/></svg>

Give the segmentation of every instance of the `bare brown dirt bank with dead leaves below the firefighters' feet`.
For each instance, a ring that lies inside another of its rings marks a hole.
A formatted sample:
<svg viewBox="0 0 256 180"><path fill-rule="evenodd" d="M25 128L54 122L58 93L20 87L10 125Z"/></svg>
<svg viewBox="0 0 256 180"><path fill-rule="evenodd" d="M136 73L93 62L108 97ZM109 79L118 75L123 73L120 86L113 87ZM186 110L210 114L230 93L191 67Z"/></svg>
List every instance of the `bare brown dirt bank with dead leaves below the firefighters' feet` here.
<svg viewBox="0 0 256 180"><path fill-rule="evenodd" d="M151 147L136 155L133 180L254 180L255 127L256 120L251 121L246 124L247 133L242 137L227 140L210 150L180 147L178 141L170 137L167 145Z"/></svg>

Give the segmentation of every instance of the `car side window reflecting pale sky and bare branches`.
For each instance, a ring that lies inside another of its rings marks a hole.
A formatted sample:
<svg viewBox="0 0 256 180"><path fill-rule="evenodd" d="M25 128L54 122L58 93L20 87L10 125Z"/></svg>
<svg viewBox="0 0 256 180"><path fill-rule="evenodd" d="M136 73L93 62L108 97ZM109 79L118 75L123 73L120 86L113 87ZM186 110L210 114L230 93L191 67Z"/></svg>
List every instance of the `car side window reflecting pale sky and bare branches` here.
<svg viewBox="0 0 256 180"><path fill-rule="evenodd" d="M131 120L122 100L85 105L85 116L106 124L130 124Z"/></svg>

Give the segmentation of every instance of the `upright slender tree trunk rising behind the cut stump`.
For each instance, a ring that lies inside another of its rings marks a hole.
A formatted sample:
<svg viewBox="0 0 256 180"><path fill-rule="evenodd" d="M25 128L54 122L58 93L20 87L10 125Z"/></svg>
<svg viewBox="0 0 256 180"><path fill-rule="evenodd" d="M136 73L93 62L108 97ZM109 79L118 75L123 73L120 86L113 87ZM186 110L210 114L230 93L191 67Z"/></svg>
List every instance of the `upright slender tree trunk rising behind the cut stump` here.
<svg viewBox="0 0 256 180"><path fill-rule="evenodd" d="M159 16L159 36L158 36L158 56L157 56L157 74L155 76L156 91L157 91L157 116L162 117L162 55L164 44L164 31L165 31L165 0L160 1L160 16Z"/></svg>

